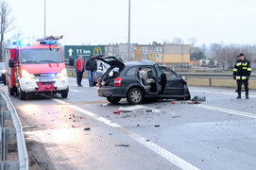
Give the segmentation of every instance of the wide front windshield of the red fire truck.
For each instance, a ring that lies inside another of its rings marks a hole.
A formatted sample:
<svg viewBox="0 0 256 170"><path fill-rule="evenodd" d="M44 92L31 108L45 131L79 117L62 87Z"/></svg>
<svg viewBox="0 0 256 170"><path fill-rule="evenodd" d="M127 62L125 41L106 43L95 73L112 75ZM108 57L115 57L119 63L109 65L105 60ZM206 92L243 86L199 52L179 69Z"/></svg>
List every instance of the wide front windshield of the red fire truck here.
<svg viewBox="0 0 256 170"><path fill-rule="evenodd" d="M27 64L35 63L60 63L63 62L60 49L23 49L21 51L21 62Z"/></svg>

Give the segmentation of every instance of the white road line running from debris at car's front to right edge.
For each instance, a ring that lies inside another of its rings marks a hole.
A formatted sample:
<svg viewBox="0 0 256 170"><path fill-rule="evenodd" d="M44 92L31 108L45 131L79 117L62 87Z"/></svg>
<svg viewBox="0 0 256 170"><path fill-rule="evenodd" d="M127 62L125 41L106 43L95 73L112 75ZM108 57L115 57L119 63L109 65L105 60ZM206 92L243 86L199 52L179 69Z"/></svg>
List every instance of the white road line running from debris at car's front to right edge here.
<svg viewBox="0 0 256 170"><path fill-rule="evenodd" d="M228 110L228 109L224 109L224 108L218 108L218 107L202 105L202 104L194 105L194 106L198 107L198 108L208 109L208 110L218 110L218 111L228 112L230 114L236 114L236 115L246 116L246 117L250 117L250 118L256 118L256 114L249 113L249 112L244 112L244 111Z"/></svg>

